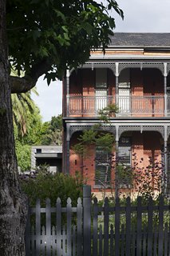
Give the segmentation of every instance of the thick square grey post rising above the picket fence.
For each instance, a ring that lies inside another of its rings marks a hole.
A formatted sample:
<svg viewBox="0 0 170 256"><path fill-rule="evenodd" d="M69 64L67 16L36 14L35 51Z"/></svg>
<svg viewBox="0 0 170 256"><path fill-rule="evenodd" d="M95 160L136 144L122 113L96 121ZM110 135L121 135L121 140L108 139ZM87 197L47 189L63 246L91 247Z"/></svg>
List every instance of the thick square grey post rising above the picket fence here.
<svg viewBox="0 0 170 256"><path fill-rule="evenodd" d="M91 256L91 186L83 186L83 255Z"/></svg>

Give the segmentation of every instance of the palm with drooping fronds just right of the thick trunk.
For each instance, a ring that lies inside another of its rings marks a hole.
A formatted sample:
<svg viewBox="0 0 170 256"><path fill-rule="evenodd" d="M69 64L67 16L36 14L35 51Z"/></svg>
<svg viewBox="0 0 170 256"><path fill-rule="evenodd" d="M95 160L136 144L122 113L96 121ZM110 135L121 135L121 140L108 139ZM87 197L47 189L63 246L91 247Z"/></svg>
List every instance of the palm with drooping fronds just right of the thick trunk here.
<svg viewBox="0 0 170 256"><path fill-rule="evenodd" d="M32 89L35 94L37 90ZM30 170L31 146L41 144L42 117L38 106L30 97L30 91L25 94L12 94L14 139L21 170Z"/></svg>

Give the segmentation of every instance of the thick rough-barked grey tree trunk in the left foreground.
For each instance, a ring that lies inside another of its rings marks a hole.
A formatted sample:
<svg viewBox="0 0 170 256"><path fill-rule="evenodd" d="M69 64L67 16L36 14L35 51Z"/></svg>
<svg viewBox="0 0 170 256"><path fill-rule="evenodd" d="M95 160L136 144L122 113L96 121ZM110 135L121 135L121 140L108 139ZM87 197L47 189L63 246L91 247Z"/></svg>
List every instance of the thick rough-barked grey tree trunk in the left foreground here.
<svg viewBox="0 0 170 256"><path fill-rule="evenodd" d="M0 1L0 255L25 255L26 197L18 182L6 41L6 0Z"/></svg>

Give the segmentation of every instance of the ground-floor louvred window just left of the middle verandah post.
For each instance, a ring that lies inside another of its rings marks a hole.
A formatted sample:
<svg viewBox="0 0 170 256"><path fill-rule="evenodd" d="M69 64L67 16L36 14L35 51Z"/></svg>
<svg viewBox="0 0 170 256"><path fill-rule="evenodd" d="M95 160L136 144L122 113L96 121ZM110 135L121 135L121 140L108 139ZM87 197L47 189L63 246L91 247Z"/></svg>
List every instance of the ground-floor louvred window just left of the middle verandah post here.
<svg viewBox="0 0 170 256"><path fill-rule="evenodd" d="M110 156L101 147L96 149L95 184L106 186L110 182Z"/></svg>

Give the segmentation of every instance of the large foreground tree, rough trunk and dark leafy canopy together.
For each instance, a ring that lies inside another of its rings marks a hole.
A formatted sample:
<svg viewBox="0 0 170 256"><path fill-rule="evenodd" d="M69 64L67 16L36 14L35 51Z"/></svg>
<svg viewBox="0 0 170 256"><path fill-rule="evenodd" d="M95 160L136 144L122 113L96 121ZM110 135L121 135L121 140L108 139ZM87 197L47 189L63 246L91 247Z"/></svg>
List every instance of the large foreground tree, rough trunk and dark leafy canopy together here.
<svg viewBox="0 0 170 256"><path fill-rule="evenodd" d="M123 17L117 2L93 0L0 1L0 252L25 255L27 203L18 180L10 93L23 93L45 74L47 81L89 58L90 49L105 47L114 18ZM8 41L7 41L8 38ZM10 76L10 66L25 71Z"/></svg>

